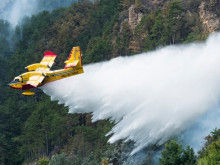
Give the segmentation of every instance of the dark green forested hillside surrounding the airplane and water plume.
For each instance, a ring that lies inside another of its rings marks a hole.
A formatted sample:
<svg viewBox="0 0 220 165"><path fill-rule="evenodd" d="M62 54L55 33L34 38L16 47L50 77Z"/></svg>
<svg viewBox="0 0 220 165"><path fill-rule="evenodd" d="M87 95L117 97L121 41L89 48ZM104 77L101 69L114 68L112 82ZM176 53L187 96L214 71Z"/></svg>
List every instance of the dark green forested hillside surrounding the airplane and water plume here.
<svg viewBox="0 0 220 165"><path fill-rule="evenodd" d="M121 141L109 144L105 136L114 123L92 123L91 114L69 114L68 107L51 101L39 89L34 91L36 95L25 97L7 84L25 66L39 62L45 51L58 54L53 66L58 69L73 46L81 47L83 63L89 64L203 41L209 32L200 21L201 2L171 0L148 6L145 0L79 0L69 7L26 17L14 31L6 20L0 20L0 165L120 164L126 146ZM207 10L215 11L213 6L219 3L207 1ZM131 6L133 12L141 13L132 27ZM159 164L218 164L220 129L213 128L204 138L206 143L198 154L172 139L162 149ZM143 162L149 163L152 156Z"/></svg>

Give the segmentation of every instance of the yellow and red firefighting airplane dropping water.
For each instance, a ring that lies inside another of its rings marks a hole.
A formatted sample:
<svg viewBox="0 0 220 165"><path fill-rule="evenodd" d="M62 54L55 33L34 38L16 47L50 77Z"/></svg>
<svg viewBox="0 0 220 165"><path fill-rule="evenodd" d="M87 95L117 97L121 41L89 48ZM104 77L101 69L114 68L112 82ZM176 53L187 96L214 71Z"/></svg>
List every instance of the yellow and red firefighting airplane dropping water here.
<svg viewBox="0 0 220 165"><path fill-rule="evenodd" d="M45 52L40 63L25 67L25 69L28 69L29 72L15 77L9 86L14 89L22 89L24 90L22 93L23 95L30 96L35 94L30 91L31 88L37 88L48 82L75 76L84 72L82 67L82 55L79 46L73 47L68 60L65 61L66 65L64 69L50 71L55 58L56 54L53 52Z"/></svg>

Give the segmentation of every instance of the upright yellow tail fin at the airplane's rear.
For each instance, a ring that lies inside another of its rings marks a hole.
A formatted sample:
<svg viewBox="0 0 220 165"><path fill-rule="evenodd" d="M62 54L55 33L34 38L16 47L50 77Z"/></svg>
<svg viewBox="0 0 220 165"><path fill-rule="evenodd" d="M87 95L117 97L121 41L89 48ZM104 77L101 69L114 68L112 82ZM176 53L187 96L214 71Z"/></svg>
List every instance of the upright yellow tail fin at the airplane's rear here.
<svg viewBox="0 0 220 165"><path fill-rule="evenodd" d="M65 61L65 64L64 69L82 66L82 55L79 46L72 48L69 58Z"/></svg>

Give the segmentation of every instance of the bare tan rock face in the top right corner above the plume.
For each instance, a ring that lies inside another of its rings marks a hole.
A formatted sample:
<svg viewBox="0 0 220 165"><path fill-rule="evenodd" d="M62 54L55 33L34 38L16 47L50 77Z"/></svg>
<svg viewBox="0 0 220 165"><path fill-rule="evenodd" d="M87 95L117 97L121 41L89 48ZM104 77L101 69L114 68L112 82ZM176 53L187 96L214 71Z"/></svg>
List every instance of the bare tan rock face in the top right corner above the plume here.
<svg viewBox="0 0 220 165"><path fill-rule="evenodd" d="M220 19L216 12L208 9L205 1L201 2L199 6L199 16L204 32L213 33L219 30Z"/></svg>

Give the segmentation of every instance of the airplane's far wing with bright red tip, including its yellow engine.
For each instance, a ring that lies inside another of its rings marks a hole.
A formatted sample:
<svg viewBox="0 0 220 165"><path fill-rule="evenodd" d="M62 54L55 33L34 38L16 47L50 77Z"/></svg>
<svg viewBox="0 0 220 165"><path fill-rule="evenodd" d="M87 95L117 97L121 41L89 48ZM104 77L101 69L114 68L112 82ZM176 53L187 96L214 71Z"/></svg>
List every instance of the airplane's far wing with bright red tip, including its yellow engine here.
<svg viewBox="0 0 220 165"><path fill-rule="evenodd" d="M44 57L41 60L40 64L42 66L47 66L47 67L39 67L37 68L38 71L49 71L50 68L52 67L54 60L56 58L56 54L54 54L53 52L49 51L49 52L45 52L44 53Z"/></svg>

